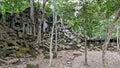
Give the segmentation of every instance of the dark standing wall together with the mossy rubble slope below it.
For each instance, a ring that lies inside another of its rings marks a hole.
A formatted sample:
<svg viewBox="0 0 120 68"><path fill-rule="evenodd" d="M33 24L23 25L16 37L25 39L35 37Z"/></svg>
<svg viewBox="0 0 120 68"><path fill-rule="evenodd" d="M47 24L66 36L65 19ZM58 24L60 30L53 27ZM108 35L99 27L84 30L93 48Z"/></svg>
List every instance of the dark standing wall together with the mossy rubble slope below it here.
<svg viewBox="0 0 120 68"><path fill-rule="evenodd" d="M35 37L27 35L27 33L31 32L29 10L30 8L27 8L20 13L6 13L4 23L0 13L0 58L36 54L35 48L33 48Z"/></svg>

